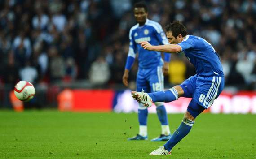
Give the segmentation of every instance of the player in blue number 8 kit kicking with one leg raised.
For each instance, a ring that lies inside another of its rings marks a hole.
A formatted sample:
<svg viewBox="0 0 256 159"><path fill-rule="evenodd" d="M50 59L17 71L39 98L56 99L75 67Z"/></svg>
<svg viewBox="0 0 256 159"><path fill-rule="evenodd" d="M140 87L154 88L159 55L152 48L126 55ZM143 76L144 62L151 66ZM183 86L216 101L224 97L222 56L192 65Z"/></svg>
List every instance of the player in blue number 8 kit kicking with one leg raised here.
<svg viewBox="0 0 256 159"><path fill-rule="evenodd" d="M179 97L190 97L192 100L185 112L181 125L172 134L168 142L154 150L150 155L168 155L173 146L184 138L192 128L195 118L209 108L224 87L224 74L220 58L212 45L205 39L187 35L185 26L176 21L166 27L169 45L152 46L141 42L146 50L181 53L194 65L197 74L185 80L181 85L166 91L143 93L132 91L132 97L146 107L152 102L171 102Z"/></svg>

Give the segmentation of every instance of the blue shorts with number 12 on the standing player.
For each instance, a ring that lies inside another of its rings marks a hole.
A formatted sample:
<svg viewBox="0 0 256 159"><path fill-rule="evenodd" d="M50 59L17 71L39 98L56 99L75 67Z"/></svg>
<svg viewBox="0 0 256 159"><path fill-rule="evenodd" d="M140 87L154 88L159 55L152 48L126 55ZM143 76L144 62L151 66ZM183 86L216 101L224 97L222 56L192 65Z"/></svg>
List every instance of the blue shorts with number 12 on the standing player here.
<svg viewBox="0 0 256 159"><path fill-rule="evenodd" d="M147 93L163 91L163 67L160 65L151 69L139 69L136 79L137 91Z"/></svg>

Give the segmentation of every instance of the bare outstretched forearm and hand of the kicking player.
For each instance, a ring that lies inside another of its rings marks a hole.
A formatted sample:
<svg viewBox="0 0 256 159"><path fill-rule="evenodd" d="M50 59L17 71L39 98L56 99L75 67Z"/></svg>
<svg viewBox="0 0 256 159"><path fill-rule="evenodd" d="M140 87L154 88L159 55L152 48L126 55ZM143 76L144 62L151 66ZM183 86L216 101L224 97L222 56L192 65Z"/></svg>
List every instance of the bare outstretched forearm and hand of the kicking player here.
<svg viewBox="0 0 256 159"><path fill-rule="evenodd" d="M181 52L181 46L176 45L176 44L153 46L147 41L140 42L140 44L141 44L141 47L143 47L146 50L168 52L168 53Z"/></svg>

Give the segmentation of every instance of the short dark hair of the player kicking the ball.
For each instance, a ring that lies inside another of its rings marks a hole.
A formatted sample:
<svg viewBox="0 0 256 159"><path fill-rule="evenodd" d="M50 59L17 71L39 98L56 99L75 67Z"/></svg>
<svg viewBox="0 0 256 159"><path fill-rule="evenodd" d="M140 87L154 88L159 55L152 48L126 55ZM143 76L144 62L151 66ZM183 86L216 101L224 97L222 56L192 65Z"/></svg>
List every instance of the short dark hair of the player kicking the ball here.
<svg viewBox="0 0 256 159"><path fill-rule="evenodd" d="M181 34L182 37L187 35L187 30L180 21L173 21L172 23L169 23L167 26L165 26L165 31L172 31L172 35L175 38L177 38L179 34Z"/></svg>

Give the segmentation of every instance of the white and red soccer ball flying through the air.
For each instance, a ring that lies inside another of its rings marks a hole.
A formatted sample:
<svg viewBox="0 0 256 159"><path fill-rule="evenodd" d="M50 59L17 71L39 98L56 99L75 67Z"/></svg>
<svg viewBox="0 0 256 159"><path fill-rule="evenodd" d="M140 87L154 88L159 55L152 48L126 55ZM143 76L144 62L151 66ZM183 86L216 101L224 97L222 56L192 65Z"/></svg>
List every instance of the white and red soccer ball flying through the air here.
<svg viewBox="0 0 256 159"><path fill-rule="evenodd" d="M30 101L35 95L35 87L27 81L20 81L14 87L15 96L24 102Z"/></svg>

